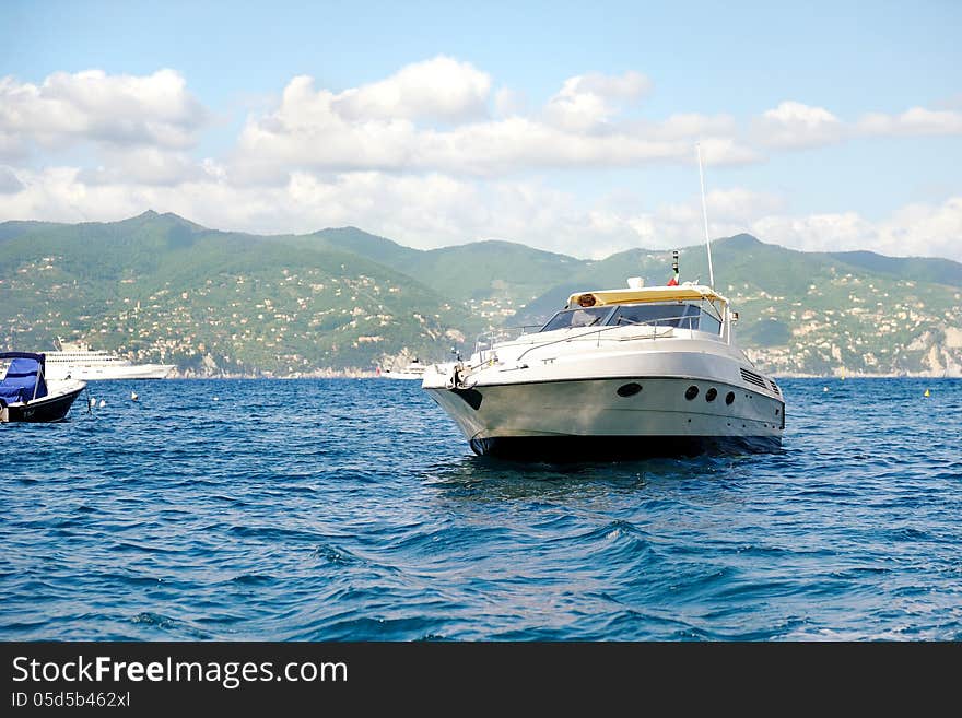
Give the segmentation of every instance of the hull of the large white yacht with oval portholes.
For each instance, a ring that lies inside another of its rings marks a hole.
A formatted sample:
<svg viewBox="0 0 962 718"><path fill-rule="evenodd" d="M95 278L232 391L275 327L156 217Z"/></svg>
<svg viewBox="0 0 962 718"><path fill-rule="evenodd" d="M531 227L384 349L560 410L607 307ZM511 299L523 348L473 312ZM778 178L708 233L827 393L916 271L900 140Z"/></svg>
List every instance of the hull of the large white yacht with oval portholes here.
<svg viewBox="0 0 962 718"><path fill-rule="evenodd" d="M771 450L781 446L785 426L781 399L711 378L626 376L424 388L482 455Z"/></svg>

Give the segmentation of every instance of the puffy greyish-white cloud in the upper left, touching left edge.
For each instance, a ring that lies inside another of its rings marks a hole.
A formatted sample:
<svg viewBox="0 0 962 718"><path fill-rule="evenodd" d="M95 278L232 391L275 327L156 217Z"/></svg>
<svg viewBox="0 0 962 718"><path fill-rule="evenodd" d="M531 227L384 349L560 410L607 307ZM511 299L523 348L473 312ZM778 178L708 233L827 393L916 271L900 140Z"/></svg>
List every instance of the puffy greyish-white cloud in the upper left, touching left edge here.
<svg viewBox="0 0 962 718"><path fill-rule="evenodd" d="M99 70L57 72L40 85L0 79L0 152L25 153L34 143L186 149L207 111L173 70L108 75Z"/></svg>

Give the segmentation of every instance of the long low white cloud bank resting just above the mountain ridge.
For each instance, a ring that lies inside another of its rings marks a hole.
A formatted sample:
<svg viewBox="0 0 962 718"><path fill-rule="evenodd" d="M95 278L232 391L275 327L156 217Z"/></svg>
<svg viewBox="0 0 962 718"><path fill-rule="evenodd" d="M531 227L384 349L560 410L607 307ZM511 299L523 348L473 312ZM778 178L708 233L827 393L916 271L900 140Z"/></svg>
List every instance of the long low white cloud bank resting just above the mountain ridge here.
<svg viewBox="0 0 962 718"><path fill-rule="evenodd" d="M216 229L307 233L355 225L419 248L507 239L577 257L629 248L670 249L704 237L701 202L657 204L640 197L587 200L535 181L460 179L441 173L295 173L278 187L223 181L220 167L176 186L84 181L77 168L17 170L21 188L0 192L0 216L114 221L151 208ZM744 188L707 196L709 234L750 232L807 251L872 249L890 256L962 261L962 198L910 204L871 222L856 212L791 216L782 198ZM769 214L752 221L761 212Z"/></svg>

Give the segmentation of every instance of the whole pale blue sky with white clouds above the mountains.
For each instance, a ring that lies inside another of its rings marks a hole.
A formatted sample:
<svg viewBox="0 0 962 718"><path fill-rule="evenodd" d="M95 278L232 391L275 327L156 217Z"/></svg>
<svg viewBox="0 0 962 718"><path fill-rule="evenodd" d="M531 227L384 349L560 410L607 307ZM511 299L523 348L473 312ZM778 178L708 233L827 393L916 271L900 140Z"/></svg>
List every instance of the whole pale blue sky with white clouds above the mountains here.
<svg viewBox="0 0 962 718"><path fill-rule="evenodd" d="M0 221L962 261L962 2L0 3Z"/></svg>

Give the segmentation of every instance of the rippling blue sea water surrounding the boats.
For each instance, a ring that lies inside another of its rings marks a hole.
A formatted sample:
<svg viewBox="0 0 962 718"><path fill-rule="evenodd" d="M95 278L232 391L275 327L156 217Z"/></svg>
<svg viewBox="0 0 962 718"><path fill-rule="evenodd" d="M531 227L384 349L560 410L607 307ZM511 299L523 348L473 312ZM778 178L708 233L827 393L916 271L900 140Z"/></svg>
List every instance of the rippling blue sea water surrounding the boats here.
<svg viewBox="0 0 962 718"><path fill-rule="evenodd" d="M962 381L782 387L779 452L550 464L417 381L91 382L0 425L0 639L962 639Z"/></svg>

